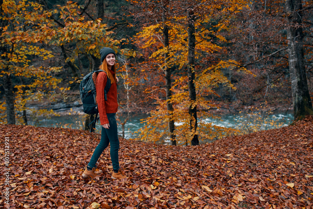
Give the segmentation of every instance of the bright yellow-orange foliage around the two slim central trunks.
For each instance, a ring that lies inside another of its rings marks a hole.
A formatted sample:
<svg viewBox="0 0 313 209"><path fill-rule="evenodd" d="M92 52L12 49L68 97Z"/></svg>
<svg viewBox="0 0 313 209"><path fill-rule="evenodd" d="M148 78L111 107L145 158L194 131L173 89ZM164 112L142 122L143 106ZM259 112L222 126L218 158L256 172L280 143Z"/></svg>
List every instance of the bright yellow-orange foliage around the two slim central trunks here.
<svg viewBox="0 0 313 209"><path fill-rule="evenodd" d="M180 144L190 141L194 134L198 134L199 138L203 140L213 140L213 138L221 138L228 134L237 133L231 128L217 127L211 123L207 123L205 118L213 117L208 113L212 107L216 107L212 101L206 99L207 95L217 95L214 88L219 85L228 86L235 89L233 84L224 75L224 70L243 71L250 73L245 68L240 68L240 63L235 60L220 60L216 54L226 52L223 43L228 40L222 35L223 31L231 30L228 18L221 18L221 20L213 19L216 10L224 12L228 15L229 11L232 13L239 12L240 9L249 8L247 1L229 1L226 7L221 5L207 4L207 2L200 4L205 9L207 14L196 14L201 16L195 21L195 59L200 65L194 67L196 77L194 83L196 85L197 99L191 102L188 93L188 77L182 73L178 76L173 75L175 81L172 84L172 97L170 100L164 101L161 96L156 99L156 110L150 112L151 116L143 121L145 126L138 131L139 138L145 141L157 142L168 139L169 120L175 122L176 140ZM201 20L201 21L199 21ZM161 75L164 75L166 68L173 68L175 71L186 70L188 65L188 34L187 34L187 16L167 17L167 21L158 22L157 24L144 27L136 34L135 42L142 49L152 48L156 49L149 54L149 67L156 68ZM165 47L163 43L164 27L168 27L169 46ZM167 61L164 61L164 55L167 55ZM197 63L197 64L198 64ZM205 66L205 67L202 67ZM150 69L149 69L150 70ZM145 69L141 70L142 72ZM160 95L164 93L161 89L158 90L156 86L147 88L145 93L152 95L152 92L160 91ZM174 111L167 111L167 103L172 103ZM195 120L190 118L188 114L189 107L196 107L198 109L198 129L196 133L190 131L190 123L195 123Z"/></svg>

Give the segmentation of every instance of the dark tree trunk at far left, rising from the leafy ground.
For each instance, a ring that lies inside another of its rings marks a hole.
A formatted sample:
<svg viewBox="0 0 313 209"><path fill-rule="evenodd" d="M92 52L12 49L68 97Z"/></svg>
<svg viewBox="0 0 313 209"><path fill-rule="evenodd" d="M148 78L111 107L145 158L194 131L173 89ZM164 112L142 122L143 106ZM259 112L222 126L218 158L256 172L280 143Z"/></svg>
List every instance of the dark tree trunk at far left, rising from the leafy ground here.
<svg viewBox="0 0 313 209"><path fill-rule="evenodd" d="M5 102L7 104L7 121L8 124L15 124L14 92L11 75L3 75L3 87Z"/></svg>

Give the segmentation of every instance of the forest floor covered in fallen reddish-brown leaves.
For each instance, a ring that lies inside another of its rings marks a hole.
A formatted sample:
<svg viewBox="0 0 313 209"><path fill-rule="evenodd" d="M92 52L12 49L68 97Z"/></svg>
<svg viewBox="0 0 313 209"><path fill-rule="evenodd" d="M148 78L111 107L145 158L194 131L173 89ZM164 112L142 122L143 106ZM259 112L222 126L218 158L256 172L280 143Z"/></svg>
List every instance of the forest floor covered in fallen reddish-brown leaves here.
<svg viewBox="0 0 313 209"><path fill-rule="evenodd" d="M94 202L126 209L313 206L313 117L193 147L122 139L126 181L110 179L110 149L98 161L99 178L81 177L100 138L94 133L1 125L0 136L1 208L82 209ZM5 204L6 187L10 205Z"/></svg>

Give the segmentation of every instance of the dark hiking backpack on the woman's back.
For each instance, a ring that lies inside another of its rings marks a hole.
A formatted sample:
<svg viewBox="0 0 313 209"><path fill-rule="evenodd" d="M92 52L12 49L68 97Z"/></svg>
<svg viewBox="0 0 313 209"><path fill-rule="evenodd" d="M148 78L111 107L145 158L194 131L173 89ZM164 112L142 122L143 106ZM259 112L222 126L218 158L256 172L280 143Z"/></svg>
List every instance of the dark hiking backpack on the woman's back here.
<svg viewBox="0 0 313 209"><path fill-rule="evenodd" d="M81 101L83 102L84 112L87 114L96 114L95 120L91 122L91 123L94 123L94 125L93 125L93 128L90 128L90 132L92 132L95 129L95 124L99 120L99 117L97 118L99 111L97 109L98 105L96 103L96 86L93 81L93 77L95 77L96 79L96 77L98 76L98 73L101 71L103 70L92 71L88 73L83 78L83 80L80 81L80 85L79 85L80 98L81 98ZM106 85L104 88L105 101L107 101L106 93L110 90L110 87L111 87L111 80L107 76ZM89 123L89 126L91 123Z"/></svg>

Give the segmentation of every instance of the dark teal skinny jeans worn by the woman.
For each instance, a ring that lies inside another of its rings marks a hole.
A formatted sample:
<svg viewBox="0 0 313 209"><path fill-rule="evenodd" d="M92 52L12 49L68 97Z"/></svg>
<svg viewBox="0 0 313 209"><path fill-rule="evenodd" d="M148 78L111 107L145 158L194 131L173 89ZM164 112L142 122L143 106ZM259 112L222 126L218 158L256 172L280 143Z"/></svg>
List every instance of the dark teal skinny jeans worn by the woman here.
<svg viewBox="0 0 313 209"><path fill-rule="evenodd" d="M103 150L110 144L110 155L114 172L118 172L120 165L118 162L118 150L120 148L120 141L117 136L117 123L115 119L115 113L106 114L109 120L110 127L101 129L101 140L96 147L94 154L90 159L88 167L94 168Z"/></svg>

